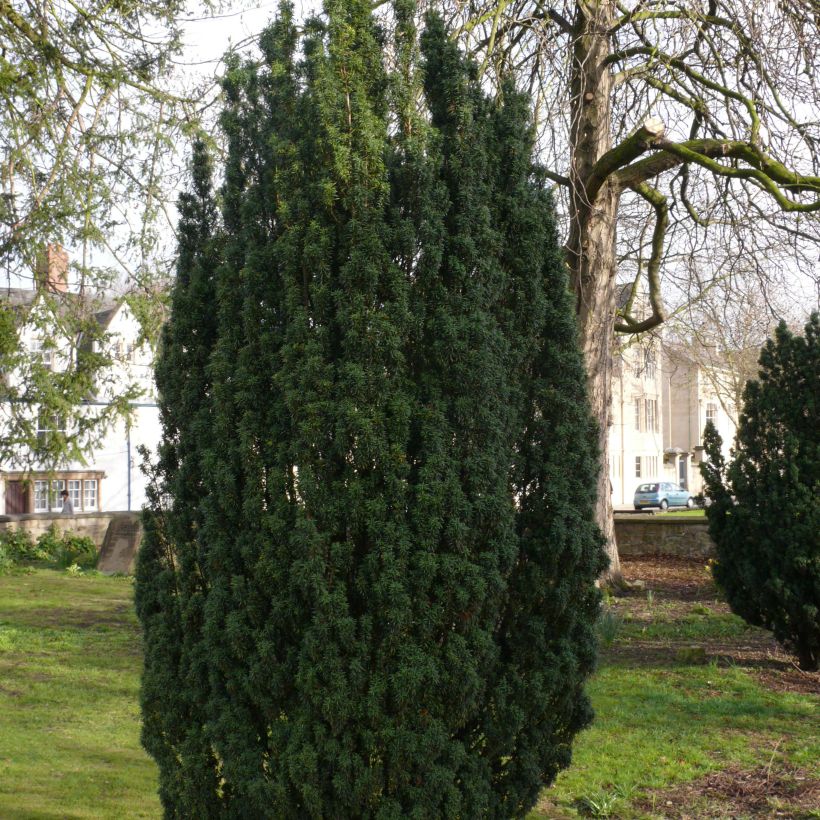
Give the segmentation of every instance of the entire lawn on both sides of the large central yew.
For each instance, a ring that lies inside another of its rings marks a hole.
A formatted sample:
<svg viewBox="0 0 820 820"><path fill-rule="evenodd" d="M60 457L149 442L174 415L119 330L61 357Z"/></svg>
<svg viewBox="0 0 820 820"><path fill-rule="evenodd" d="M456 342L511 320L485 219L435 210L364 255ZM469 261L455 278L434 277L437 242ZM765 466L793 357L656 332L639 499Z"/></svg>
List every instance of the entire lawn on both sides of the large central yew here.
<svg viewBox="0 0 820 820"><path fill-rule="evenodd" d="M704 567L625 562L589 691L598 720L536 818L820 818L820 678L717 599ZM127 578L0 577L0 817L159 817L139 745Z"/></svg>

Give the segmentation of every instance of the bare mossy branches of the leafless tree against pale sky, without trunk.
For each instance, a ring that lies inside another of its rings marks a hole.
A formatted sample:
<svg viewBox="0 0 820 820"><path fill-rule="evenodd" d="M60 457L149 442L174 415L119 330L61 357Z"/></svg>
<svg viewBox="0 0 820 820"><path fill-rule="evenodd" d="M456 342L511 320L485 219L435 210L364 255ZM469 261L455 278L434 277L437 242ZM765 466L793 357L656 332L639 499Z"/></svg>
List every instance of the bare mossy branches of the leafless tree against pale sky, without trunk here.
<svg viewBox="0 0 820 820"><path fill-rule="evenodd" d="M619 276L653 291L655 321L697 298L711 280L741 273L761 286L816 293L816 2L429 6L444 9L488 81L512 72L532 93L542 159L567 218L573 165L584 149L576 138L578 97L595 90L587 84L596 71L610 75L608 129L616 155L598 171L623 189ZM600 66L577 62L587 23L605 40ZM662 131L644 135L638 157L619 161L618 147L634 142L648 119ZM794 282L797 275L803 281ZM619 330L630 324L623 317Z"/></svg>

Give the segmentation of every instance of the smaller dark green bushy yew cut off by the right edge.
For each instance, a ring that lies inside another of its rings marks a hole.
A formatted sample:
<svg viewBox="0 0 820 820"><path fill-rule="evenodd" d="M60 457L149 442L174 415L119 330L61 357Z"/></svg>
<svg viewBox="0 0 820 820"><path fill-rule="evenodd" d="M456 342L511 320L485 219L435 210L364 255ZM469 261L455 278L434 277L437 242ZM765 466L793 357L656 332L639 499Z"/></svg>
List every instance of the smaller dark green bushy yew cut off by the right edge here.
<svg viewBox="0 0 820 820"><path fill-rule="evenodd" d="M703 464L715 579L732 610L820 662L820 318L777 328L746 385L732 460L709 424Z"/></svg>

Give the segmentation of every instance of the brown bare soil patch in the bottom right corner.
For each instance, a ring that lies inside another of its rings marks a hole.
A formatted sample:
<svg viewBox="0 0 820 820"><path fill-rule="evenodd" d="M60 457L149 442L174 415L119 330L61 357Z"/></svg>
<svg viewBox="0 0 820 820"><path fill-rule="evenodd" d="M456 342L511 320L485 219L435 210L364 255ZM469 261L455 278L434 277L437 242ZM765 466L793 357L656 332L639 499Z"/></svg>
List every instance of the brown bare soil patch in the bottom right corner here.
<svg viewBox="0 0 820 820"><path fill-rule="evenodd" d="M820 780L788 766L736 767L712 772L699 780L653 792L638 801L653 817L669 820L701 818L818 816Z"/></svg>

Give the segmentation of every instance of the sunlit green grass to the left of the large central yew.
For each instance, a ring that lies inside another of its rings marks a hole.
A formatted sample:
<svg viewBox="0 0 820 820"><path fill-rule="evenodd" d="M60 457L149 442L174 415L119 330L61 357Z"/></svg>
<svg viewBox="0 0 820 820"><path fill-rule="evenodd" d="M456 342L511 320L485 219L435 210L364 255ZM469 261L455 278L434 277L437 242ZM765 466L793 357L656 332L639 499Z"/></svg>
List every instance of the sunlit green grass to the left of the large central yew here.
<svg viewBox="0 0 820 820"><path fill-rule="evenodd" d="M0 817L159 817L127 578L0 577Z"/></svg>

